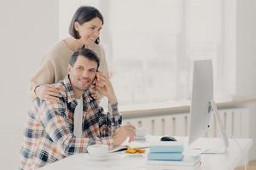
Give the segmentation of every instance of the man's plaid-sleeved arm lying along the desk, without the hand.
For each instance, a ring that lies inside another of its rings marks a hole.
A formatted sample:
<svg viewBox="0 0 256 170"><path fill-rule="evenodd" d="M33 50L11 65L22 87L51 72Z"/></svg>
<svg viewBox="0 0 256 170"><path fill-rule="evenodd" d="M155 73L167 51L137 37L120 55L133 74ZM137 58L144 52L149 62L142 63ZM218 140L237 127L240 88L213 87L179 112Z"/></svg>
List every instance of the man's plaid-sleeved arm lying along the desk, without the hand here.
<svg viewBox="0 0 256 170"><path fill-rule="evenodd" d="M44 102L42 105L43 113L41 121L44 124L46 133L58 144L63 155L73 155L74 153L83 153L87 151L90 144L108 144L113 145L112 137L106 137L103 140L99 138L77 138L71 133L69 124L67 123L67 113L65 103L59 101L54 105Z"/></svg>

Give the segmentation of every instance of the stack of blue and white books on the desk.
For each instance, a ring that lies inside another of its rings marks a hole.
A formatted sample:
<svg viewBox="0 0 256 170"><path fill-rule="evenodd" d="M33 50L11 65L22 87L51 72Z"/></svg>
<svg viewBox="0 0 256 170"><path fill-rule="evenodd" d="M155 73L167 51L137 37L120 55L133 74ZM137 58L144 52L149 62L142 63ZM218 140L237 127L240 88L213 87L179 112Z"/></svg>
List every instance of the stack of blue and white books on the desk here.
<svg viewBox="0 0 256 170"><path fill-rule="evenodd" d="M149 146L146 169L196 170L200 164L200 156L183 156L183 144L160 142Z"/></svg>

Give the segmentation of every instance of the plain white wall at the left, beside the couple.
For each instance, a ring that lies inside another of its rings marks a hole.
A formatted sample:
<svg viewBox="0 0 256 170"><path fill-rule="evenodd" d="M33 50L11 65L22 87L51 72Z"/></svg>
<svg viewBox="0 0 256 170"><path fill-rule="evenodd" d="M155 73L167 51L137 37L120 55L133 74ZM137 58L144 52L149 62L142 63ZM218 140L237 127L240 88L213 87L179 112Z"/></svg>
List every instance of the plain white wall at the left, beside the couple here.
<svg viewBox="0 0 256 170"><path fill-rule="evenodd" d="M0 164L1 169L17 169L28 80L58 39L58 1L1 1L0 21Z"/></svg>

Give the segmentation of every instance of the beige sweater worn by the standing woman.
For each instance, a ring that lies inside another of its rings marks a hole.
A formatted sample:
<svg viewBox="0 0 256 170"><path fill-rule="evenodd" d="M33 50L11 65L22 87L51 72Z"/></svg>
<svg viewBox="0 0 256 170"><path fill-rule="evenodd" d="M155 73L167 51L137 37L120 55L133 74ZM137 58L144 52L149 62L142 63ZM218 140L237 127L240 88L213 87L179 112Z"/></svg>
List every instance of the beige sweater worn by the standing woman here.
<svg viewBox="0 0 256 170"><path fill-rule="evenodd" d="M102 46L95 44L93 51L101 59L99 71L108 75L108 65L105 59L105 54ZM62 40L56 42L48 53L44 55L38 71L30 80L30 96L31 99L36 99L35 88L42 84L51 84L64 79L67 76L68 61L73 54L73 51L67 47L67 44Z"/></svg>

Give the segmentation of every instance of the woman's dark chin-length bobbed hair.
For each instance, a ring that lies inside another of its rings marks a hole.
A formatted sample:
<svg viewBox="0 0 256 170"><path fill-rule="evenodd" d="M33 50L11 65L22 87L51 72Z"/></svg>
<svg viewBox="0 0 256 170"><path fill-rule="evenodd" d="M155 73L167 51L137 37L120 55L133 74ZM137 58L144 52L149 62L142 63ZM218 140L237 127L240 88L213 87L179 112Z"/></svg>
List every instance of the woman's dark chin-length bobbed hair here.
<svg viewBox="0 0 256 170"><path fill-rule="evenodd" d="M99 18L100 20L102 20L102 24L104 23L103 16L98 9L96 9L94 7L90 7L90 6L79 7L77 9L77 11L75 12L75 14L73 14L73 19L70 22L70 26L68 29L69 34L72 37L79 39L80 38L79 32L76 31L74 23L77 21L77 22L79 22L80 25L83 25L84 22L93 20L96 17ZM95 42L96 42L96 44L98 44L100 42L100 38L98 37Z"/></svg>

